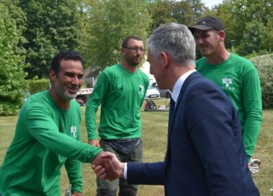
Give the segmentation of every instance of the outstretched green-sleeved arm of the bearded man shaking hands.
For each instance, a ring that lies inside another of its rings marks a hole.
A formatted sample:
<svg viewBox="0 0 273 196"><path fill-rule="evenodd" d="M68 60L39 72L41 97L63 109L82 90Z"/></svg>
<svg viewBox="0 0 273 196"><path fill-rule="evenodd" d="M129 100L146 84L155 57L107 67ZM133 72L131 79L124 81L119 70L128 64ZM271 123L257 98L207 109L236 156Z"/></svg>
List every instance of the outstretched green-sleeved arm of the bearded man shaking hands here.
<svg viewBox="0 0 273 196"><path fill-rule="evenodd" d="M41 112L42 111L42 112ZM41 145L61 156L91 162L102 149L81 143L59 132L53 119L45 117L43 110L36 108L27 114L27 130Z"/></svg>

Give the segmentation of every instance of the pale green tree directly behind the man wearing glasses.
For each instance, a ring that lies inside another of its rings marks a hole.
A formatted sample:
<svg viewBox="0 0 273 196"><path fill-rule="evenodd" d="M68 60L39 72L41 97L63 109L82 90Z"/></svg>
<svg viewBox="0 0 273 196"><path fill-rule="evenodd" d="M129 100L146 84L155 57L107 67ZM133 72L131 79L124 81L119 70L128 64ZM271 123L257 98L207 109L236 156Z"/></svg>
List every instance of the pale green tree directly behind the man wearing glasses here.
<svg viewBox="0 0 273 196"><path fill-rule="evenodd" d="M88 48L84 51L88 65L104 68L119 62L121 42L128 35L147 38L151 22L147 1L93 1L88 8L92 24Z"/></svg>

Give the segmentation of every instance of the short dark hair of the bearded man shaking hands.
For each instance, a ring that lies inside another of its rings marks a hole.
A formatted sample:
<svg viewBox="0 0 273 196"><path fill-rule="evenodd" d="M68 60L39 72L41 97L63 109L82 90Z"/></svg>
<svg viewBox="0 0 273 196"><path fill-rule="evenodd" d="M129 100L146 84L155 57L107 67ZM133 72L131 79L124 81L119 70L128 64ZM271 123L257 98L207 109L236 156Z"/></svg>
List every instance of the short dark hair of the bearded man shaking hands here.
<svg viewBox="0 0 273 196"><path fill-rule="evenodd" d="M73 51L69 49L64 49L60 51L54 58L51 60L51 70L53 70L56 75L60 73L60 61L61 60L79 60L82 64L84 62L82 56L78 51Z"/></svg>

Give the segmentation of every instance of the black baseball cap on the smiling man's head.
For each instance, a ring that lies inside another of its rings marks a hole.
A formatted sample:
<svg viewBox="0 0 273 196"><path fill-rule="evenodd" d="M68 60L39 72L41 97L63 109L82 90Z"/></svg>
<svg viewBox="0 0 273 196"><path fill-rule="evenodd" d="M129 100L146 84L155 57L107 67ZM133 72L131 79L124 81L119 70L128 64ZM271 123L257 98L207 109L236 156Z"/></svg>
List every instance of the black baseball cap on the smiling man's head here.
<svg viewBox="0 0 273 196"><path fill-rule="evenodd" d="M194 34L194 30L209 30L209 29L215 29L217 31L224 30L224 23L217 17L213 16L205 16L204 18L197 21L197 23L191 27L189 27L189 30L192 34Z"/></svg>

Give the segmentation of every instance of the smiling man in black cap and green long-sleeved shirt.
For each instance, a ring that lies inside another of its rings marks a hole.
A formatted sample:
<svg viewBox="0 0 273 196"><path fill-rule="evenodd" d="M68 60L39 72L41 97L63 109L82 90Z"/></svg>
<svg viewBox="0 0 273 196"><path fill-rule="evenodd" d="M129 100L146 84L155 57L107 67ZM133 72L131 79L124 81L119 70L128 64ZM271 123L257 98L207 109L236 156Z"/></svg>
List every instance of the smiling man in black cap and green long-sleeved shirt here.
<svg viewBox="0 0 273 196"><path fill-rule="evenodd" d="M204 56L195 62L196 69L224 90L239 113L250 167L262 119L261 85L257 70L249 60L226 50L224 24L217 17L206 16L189 29Z"/></svg>

